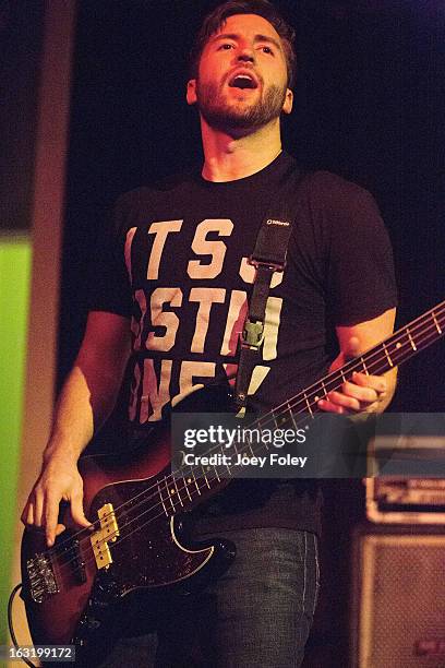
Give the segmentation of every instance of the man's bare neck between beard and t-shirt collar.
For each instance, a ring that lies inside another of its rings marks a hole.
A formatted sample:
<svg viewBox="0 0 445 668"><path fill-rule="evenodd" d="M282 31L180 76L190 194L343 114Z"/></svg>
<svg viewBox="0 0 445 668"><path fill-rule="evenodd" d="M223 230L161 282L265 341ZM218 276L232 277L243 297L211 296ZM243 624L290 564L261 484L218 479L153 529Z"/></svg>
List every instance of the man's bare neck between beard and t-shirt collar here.
<svg viewBox="0 0 445 668"><path fill-rule="evenodd" d="M201 119L204 150L203 177L207 181L236 181L267 167L281 153L279 119L250 134L211 128Z"/></svg>

